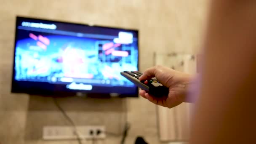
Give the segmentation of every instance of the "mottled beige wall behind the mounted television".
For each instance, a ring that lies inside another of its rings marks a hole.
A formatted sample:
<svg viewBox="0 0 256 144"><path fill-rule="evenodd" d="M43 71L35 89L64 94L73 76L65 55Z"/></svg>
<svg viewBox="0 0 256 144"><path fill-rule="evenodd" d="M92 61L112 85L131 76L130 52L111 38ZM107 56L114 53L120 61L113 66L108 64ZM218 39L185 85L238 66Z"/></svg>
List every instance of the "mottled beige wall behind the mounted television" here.
<svg viewBox="0 0 256 144"><path fill-rule="evenodd" d="M193 53L200 46L207 0L1 0L0 4L0 143L77 144L43 141L45 125L69 125L51 98L11 94L11 67L15 16L33 16L140 30L140 68L153 65L153 52ZM123 128L125 100L62 98L61 106L77 125L105 125L107 131ZM156 107L138 98L128 99L131 123L126 144L145 136L160 144ZM118 144L107 136L102 144ZM101 144L98 142L98 144Z"/></svg>

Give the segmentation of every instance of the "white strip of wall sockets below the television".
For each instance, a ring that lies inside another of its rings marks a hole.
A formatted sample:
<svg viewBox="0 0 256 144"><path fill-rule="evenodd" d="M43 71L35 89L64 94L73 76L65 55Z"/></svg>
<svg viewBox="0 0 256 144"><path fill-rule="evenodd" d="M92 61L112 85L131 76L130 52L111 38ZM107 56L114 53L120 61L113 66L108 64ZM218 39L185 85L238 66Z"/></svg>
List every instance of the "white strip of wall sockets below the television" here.
<svg viewBox="0 0 256 144"><path fill-rule="evenodd" d="M105 127L102 125L76 126L80 139L104 139ZM77 139L75 128L72 126L44 126L43 139L64 140Z"/></svg>

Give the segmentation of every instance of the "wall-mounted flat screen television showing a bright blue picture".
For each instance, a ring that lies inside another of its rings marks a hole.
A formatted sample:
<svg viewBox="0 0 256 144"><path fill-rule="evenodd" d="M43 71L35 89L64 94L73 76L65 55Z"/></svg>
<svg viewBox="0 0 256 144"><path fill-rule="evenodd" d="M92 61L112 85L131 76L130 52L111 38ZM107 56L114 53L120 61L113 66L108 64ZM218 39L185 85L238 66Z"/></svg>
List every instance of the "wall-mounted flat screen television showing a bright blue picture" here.
<svg viewBox="0 0 256 144"><path fill-rule="evenodd" d="M12 93L137 97L138 30L16 17Z"/></svg>

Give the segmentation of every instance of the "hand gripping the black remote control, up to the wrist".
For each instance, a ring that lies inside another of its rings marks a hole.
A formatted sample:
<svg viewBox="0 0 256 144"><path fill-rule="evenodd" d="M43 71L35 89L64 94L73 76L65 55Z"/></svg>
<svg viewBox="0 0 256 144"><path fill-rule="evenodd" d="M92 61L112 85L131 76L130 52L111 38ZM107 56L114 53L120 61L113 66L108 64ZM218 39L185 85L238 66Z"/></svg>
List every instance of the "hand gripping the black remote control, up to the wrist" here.
<svg viewBox="0 0 256 144"><path fill-rule="evenodd" d="M139 80L148 80L156 77L164 86L169 88L168 96L154 97L144 90L139 94L154 104L163 107L175 107L182 102L186 102L187 85L191 81L191 75L170 69L168 67L155 66L147 69Z"/></svg>

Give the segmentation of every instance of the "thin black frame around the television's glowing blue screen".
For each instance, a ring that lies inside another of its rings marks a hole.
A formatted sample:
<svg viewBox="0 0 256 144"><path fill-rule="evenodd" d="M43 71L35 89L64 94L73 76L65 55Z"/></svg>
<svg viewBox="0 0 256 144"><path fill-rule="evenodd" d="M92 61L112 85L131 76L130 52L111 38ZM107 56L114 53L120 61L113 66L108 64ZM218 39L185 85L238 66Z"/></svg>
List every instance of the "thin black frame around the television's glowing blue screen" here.
<svg viewBox="0 0 256 144"><path fill-rule="evenodd" d="M137 33L137 45L138 45L138 65L137 69L139 70L139 30L138 29L128 29L123 27L110 27L110 26L102 26L102 25L91 25L91 24L85 24L85 23L77 23L72 21L63 21L63 20L53 20L53 19L45 19L40 17L28 17L28 16L16 16L16 24L15 24L15 38L14 38L14 50L13 50L13 66L12 66L12 83L11 83L11 93L26 93L29 95L37 95L37 96L53 96L53 97L59 97L59 96L88 96L88 97L99 97L99 98L109 98L109 97L138 97L139 96L139 88L136 87L136 93L131 94L120 94L116 95L115 93L81 93L80 91L77 92L68 92L68 91L47 91L44 92L43 89L41 91L29 91L29 90L20 90L19 88L15 88L16 81L15 80L15 53L16 53L16 42L17 42L17 27L18 27L18 21L19 19L29 19L29 20L42 20L42 21L49 21L49 22L57 22L57 23L64 23L64 24L75 24L80 26L88 26L88 27L100 27L100 28L108 28L108 29L120 29L120 30L129 30L129 31L136 31ZM31 83L41 83L41 82L31 82Z"/></svg>

